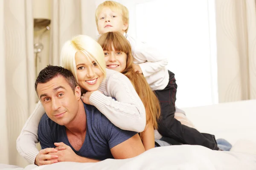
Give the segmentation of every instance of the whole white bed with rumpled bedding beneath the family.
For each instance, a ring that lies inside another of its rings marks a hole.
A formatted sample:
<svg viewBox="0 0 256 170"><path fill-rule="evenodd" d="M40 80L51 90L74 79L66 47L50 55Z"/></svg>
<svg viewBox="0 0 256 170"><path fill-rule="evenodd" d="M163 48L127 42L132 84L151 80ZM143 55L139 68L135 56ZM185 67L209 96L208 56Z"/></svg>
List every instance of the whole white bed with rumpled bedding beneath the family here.
<svg viewBox="0 0 256 170"><path fill-rule="evenodd" d="M131 159L106 159L98 163L59 162L25 168L0 164L6 170L256 170L256 100L183 108L196 128L226 139L230 152L202 146L157 147Z"/></svg>

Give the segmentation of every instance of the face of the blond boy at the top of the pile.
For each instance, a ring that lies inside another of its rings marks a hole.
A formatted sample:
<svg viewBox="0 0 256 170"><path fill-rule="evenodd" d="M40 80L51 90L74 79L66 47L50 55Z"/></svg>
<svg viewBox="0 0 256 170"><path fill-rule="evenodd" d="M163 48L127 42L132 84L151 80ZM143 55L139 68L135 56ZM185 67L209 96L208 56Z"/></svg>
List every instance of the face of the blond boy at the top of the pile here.
<svg viewBox="0 0 256 170"><path fill-rule="evenodd" d="M112 11L108 7L102 9L97 25L99 34L114 31L124 34L128 27L128 24L122 20L122 14L119 11Z"/></svg>

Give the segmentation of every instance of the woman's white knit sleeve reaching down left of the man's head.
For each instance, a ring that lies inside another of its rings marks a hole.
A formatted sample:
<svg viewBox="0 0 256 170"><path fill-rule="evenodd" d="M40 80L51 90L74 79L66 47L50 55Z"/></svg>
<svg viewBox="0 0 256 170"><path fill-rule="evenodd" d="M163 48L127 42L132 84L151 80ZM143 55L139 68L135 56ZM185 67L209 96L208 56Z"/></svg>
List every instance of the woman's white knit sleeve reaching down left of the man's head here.
<svg viewBox="0 0 256 170"><path fill-rule="evenodd" d="M44 108L39 101L16 141L17 151L30 164L34 164L35 157L39 153L35 144L38 143L38 125L44 113Z"/></svg>

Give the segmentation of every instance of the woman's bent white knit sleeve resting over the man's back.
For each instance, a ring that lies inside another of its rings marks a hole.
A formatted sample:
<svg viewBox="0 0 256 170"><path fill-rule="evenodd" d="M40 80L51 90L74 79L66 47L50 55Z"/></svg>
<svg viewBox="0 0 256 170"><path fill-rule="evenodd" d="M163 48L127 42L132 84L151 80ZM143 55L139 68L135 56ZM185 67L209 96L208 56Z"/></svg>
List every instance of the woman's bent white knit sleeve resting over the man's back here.
<svg viewBox="0 0 256 170"><path fill-rule="evenodd" d="M107 96L95 91L90 95L90 104L120 129L142 132L146 125L145 107L130 80L114 71L102 83L106 83ZM116 100L108 96L115 97Z"/></svg>

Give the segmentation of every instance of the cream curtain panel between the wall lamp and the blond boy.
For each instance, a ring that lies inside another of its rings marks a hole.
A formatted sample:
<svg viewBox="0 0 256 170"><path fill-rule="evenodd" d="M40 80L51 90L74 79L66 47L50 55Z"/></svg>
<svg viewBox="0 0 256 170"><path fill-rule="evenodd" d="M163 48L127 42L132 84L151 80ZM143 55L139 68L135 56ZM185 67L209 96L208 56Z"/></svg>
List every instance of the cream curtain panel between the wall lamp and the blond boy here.
<svg viewBox="0 0 256 170"><path fill-rule="evenodd" d="M65 41L77 34L96 38L94 0L52 0L50 64L60 65L59 56Z"/></svg>

